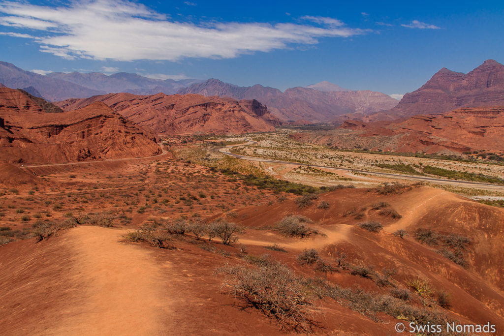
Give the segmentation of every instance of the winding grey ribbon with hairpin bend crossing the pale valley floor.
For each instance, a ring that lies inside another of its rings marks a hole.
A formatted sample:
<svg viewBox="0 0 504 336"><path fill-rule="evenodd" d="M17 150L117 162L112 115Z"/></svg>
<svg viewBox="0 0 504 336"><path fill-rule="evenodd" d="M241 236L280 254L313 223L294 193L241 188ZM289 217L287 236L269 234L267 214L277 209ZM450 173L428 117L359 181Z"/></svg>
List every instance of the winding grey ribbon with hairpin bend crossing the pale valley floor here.
<svg viewBox="0 0 504 336"><path fill-rule="evenodd" d="M364 173L364 174L382 176L382 177L393 177L393 178L400 178L400 179L406 179L406 180L416 180L416 181L422 181L422 182L434 182L434 183L450 184L450 185L458 185L458 186L463 185L463 186L474 187L474 188L492 187L493 189L504 190L504 185L498 185L498 184L492 184L492 183L462 181L462 180L449 180L449 179L444 179L444 178L434 178L434 177L394 174L394 173L370 172L370 171L359 170L359 169L348 169L348 168L341 169L341 168L335 168L335 167L330 167L330 166L318 166L318 165L309 165L309 164L297 163L297 162L291 162L291 161L280 161L280 160L273 160L273 159L256 158L253 156L244 156L244 155L239 155L239 154L234 154L234 153L229 152L229 149L232 147L257 144L256 141L252 141L249 139L245 139L245 140L248 141L248 143L220 147L217 150L223 154L235 157L237 159L250 160L250 161L281 163L281 164L297 165L297 166L313 167L313 168L326 168L326 169L334 169L334 170L346 171L346 172Z"/></svg>

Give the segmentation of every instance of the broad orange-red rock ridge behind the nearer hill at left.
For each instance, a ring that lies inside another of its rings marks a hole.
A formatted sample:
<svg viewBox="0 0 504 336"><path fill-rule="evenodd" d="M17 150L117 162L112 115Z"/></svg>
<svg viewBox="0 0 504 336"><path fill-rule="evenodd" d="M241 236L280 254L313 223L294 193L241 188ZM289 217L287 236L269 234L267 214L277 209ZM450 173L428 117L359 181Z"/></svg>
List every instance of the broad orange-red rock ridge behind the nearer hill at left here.
<svg viewBox="0 0 504 336"><path fill-rule="evenodd" d="M200 95L136 96L119 93L56 103L71 110L101 101L129 120L157 133L242 133L272 131L280 125L257 100Z"/></svg>

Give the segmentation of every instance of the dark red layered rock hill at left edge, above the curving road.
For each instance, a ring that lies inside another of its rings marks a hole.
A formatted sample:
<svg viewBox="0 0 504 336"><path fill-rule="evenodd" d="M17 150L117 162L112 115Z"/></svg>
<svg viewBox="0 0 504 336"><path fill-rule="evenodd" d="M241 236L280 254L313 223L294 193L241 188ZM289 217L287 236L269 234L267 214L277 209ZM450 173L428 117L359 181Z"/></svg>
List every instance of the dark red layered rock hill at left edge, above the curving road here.
<svg viewBox="0 0 504 336"><path fill-rule="evenodd" d="M103 103L46 113L19 90L0 88L0 161L60 163L161 153L154 136Z"/></svg>

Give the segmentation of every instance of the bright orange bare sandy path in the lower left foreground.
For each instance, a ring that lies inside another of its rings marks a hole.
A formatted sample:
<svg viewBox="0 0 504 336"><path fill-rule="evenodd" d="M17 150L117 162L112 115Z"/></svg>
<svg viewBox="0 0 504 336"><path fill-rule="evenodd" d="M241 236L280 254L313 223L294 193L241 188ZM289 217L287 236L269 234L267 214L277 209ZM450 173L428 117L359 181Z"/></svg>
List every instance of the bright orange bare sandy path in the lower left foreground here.
<svg viewBox="0 0 504 336"><path fill-rule="evenodd" d="M125 230L82 226L66 233L79 256L70 279L82 284L83 305L71 307L48 334L162 334L170 306L159 264L148 250L120 242Z"/></svg>

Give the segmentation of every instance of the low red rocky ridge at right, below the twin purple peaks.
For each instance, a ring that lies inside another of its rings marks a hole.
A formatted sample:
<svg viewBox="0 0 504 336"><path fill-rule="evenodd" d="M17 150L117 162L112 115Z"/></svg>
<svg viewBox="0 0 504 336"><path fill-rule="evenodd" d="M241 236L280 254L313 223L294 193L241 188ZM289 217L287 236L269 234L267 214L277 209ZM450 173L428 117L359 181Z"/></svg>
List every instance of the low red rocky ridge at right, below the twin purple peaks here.
<svg viewBox="0 0 504 336"><path fill-rule="evenodd" d="M504 107L460 108L393 122L348 120L339 129L303 133L300 139L340 148L358 146L393 152L504 152Z"/></svg>

